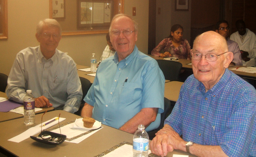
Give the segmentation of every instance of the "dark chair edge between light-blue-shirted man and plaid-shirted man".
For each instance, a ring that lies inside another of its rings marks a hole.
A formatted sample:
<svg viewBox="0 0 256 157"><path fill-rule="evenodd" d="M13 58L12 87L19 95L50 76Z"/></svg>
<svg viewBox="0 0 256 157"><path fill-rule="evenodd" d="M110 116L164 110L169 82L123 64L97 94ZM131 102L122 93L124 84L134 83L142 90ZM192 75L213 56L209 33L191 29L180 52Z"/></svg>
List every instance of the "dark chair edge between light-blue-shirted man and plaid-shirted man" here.
<svg viewBox="0 0 256 157"><path fill-rule="evenodd" d="M160 125L157 129L148 131L148 136L149 136L150 140L152 140L156 136L155 133L157 131L159 131L160 129L162 129L164 127L164 120L166 119L166 117L169 116L169 115L167 115L167 113L170 113L169 112L170 108L171 108L171 101L168 100L167 98L164 98L164 112L161 113Z"/></svg>

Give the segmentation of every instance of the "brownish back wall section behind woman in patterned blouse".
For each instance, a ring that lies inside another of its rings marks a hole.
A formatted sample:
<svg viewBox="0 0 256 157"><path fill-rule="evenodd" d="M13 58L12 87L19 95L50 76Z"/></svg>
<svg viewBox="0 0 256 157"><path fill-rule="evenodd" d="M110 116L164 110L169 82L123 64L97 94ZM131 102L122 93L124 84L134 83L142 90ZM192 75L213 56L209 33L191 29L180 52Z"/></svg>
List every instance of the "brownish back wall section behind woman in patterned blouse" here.
<svg viewBox="0 0 256 157"><path fill-rule="evenodd" d="M156 45L170 35L171 27L175 24L183 26L183 38L190 43L191 0L188 11L175 11L174 6L174 0L156 0ZM157 12L158 7L161 8L160 15Z"/></svg>

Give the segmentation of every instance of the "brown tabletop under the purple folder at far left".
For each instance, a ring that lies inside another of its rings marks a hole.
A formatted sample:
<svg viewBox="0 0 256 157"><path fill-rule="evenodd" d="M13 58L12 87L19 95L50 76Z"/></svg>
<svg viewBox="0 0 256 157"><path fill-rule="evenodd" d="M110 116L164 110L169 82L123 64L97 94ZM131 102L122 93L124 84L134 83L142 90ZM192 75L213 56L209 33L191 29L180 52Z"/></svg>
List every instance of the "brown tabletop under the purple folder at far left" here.
<svg viewBox="0 0 256 157"><path fill-rule="evenodd" d="M7 98L6 93L0 92L0 97ZM43 113L46 110L52 111L52 110L54 110L54 107L42 108L42 110L37 111L36 114ZM18 113L10 112L10 111L9 112L0 112L0 122L4 122L4 121L16 119L16 118L21 118L24 121L24 119L22 117L24 117L24 116L21 114L18 114Z"/></svg>

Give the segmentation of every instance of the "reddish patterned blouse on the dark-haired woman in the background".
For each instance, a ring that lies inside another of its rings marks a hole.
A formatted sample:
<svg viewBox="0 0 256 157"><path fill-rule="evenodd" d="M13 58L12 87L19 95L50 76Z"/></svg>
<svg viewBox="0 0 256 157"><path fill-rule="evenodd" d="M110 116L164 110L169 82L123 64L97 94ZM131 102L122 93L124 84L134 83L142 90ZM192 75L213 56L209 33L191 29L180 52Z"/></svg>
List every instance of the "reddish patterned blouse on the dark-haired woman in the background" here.
<svg viewBox="0 0 256 157"><path fill-rule="evenodd" d="M160 51L164 50L164 52L170 52L171 56L180 59L190 58L190 45L186 39L182 39L180 46L177 48L172 44L172 38L165 38L161 41L151 52L153 56L160 56Z"/></svg>

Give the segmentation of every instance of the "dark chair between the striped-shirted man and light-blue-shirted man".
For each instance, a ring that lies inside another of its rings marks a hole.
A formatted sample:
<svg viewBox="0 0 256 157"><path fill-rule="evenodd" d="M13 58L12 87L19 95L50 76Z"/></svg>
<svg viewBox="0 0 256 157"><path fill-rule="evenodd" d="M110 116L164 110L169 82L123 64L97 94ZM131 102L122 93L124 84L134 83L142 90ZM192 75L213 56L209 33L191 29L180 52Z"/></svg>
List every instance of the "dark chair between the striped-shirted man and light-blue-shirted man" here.
<svg viewBox="0 0 256 157"><path fill-rule="evenodd" d="M81 85L82 85L82 91L83 91L83 97L82 97L82 101L81 101L81 105L78 111L75 112L76 115L80 116L81 115L81 111L82 108L84 107L84 97L87 94L88 90L90 89L90 87L92 86L92 83L85 78L79 77L80 81L81 81Z"/></svg>

